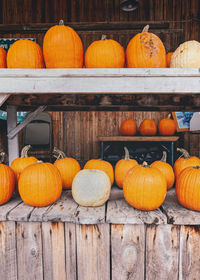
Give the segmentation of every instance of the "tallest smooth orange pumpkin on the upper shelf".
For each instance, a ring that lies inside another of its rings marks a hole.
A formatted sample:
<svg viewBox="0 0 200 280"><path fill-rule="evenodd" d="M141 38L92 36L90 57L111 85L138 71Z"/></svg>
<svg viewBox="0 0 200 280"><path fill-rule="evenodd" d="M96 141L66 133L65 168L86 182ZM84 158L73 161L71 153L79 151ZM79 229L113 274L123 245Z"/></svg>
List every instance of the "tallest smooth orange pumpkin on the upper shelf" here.
<svg viewBox="0 0 200 280"><path fill-rule="evenodd" d="M51 27L43 40L46 68L82 68L83 45L79 35L61 20Z"/></svg>

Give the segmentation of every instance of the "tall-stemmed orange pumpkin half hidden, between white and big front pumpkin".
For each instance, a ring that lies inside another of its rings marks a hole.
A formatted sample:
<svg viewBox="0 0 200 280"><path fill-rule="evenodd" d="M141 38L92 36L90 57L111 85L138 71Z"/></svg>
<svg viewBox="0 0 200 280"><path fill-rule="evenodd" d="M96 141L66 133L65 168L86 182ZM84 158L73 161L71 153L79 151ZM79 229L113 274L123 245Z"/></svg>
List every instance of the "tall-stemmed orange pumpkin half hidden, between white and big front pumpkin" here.
<svg viewBox="0 0 200 280"><path fill-rule="evenodd" d="M129 151L124 147L125 156L123 159L120 159L115 165L115 183L118 187L123 188L124 179L128 171L133 168L138 162L135 159L131 159L129 156Z"/></svg>

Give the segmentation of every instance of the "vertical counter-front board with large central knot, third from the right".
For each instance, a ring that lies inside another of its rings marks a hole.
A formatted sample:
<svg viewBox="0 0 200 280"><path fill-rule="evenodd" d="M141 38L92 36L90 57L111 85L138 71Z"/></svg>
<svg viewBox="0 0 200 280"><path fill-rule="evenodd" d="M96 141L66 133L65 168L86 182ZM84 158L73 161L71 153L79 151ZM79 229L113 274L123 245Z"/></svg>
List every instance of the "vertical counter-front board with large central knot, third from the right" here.
<svg viewBox="0 0 200 280"><path fill-rule="evenodd" d="M143 280L145 226L111 225L113 280Z"/></svg>

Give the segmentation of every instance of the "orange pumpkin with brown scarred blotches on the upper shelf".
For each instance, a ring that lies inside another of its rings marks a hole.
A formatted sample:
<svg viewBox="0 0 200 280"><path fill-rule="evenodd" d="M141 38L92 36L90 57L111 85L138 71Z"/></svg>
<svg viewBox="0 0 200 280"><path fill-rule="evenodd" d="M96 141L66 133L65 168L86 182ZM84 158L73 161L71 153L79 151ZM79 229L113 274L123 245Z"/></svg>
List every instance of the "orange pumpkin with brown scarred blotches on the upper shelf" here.
<svg viewBox="0 0 200 280"><path fill-rule="evenodd" d="M129 68L165 68L165 47L158 36L148 32L145 26L142 33L135 35L128 43L126 61Z"/></svg>

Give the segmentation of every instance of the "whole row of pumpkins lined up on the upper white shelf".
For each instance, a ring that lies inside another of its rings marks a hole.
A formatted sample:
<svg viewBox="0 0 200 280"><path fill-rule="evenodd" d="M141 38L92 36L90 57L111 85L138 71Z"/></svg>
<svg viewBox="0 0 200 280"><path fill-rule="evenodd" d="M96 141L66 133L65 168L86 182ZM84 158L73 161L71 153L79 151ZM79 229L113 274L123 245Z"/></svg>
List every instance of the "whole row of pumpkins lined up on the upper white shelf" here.
<svg viewBox="0 0 200 280"><path fill-rule="evenodd" d="M115 40L94 41L83 52L79 35L61 20L45 34L43 49L31 40L18 40L8 54L0 48L1 68L165 68L200 67L200 43L187 41L166 54L161 39L145 26L128 43L126 51ZM126 60L126 63L125 63Z"/></svg>

